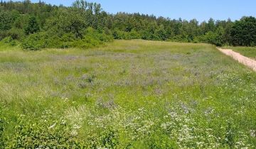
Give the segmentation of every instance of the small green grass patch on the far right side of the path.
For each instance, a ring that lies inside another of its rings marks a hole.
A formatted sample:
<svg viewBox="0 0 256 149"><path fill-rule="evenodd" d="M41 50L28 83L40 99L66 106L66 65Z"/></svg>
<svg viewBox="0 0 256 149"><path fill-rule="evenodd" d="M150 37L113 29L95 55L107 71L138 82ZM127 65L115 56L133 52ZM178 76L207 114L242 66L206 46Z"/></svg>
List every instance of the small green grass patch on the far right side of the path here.
<svg viewBox="0 0 256 149"><path fill-rule="evenodd" d="M256 60L256 47L226 47L228 49L232 49L241 55L246 57L250 57Z"/></svg>

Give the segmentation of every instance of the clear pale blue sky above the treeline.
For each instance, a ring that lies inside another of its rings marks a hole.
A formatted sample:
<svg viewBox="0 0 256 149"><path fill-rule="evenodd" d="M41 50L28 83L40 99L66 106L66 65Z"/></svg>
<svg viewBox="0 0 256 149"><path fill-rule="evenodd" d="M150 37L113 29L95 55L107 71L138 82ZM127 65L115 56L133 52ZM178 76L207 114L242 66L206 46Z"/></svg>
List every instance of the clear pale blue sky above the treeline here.
<svg viewBox="0 0 256 149"><path fill-rule="evenodd" d="M21 1L21 0L20 0ZM32 0L38 2L39 0ZM48 4L71 6L75 0L42 0ZM233 21L242 16L256 16L256 0L90 0L100 3L108 13L127 12L153 14L198 21L215 20Z"/></svg>

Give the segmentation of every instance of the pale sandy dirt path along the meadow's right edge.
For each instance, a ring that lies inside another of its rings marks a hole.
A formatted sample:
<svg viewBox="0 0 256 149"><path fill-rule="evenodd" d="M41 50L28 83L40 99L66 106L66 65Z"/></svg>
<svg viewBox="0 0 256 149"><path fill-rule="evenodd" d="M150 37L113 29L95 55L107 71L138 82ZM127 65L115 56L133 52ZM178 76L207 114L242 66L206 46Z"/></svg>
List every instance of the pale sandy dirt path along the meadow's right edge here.
<svg viewBox="0 0 256 149"><path fill-rule="evenodd" d="M250 67L252 70L256 72L256 60L252 60L248 57L245 57L240 53L235 53L233 50L230 49L218 48L218 50L220 50L220 52L224 53L225 55L233 57L235 60L238 60L238 62L242 63L243 65L246 65L247 67Z"/></svg>

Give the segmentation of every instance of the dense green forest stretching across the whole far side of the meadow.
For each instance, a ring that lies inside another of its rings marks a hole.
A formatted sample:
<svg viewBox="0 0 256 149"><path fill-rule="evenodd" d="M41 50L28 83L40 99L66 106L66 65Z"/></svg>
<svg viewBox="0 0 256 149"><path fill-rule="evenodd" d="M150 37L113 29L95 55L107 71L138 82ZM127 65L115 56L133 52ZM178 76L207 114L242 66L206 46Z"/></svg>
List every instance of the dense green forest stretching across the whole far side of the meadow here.
<svg viewBox="0 0 256 149"><path fill-rule="evenodd" d="M1 1L0 40L22 48L90 48L113 39L171 40L221 45L256 45L256 18L199 23L145 15L110 14L100 4L77 0L52 6L29 0Z"/></svg>

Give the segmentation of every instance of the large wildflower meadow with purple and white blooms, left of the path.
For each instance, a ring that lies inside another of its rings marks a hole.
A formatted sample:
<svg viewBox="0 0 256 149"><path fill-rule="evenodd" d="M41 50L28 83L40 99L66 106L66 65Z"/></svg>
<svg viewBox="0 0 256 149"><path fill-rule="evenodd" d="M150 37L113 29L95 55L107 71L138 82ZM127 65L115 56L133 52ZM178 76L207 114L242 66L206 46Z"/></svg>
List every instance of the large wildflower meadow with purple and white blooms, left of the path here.
<svg viewBox="0 0 256 149"><path fill-rule="evenodd" d="M0 148L255 148L255 80L207 44L1 50Z"/></svg>

